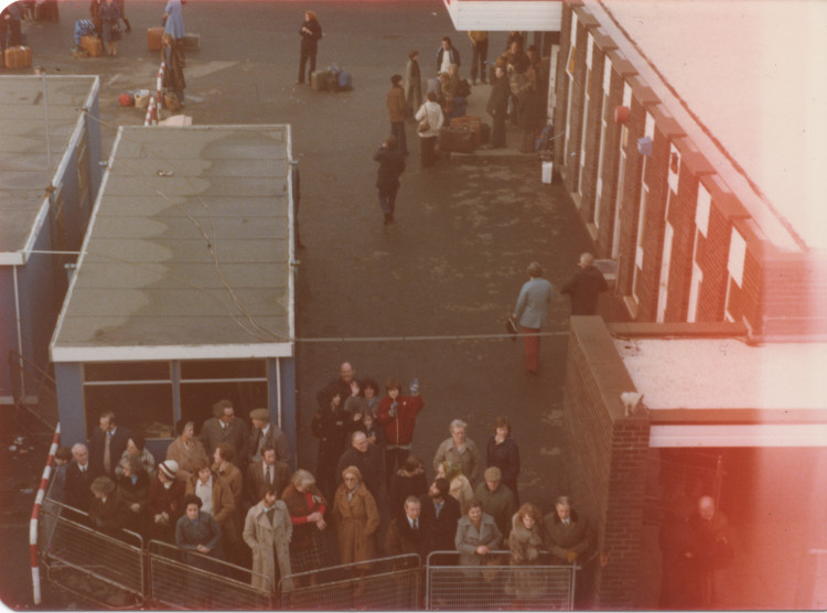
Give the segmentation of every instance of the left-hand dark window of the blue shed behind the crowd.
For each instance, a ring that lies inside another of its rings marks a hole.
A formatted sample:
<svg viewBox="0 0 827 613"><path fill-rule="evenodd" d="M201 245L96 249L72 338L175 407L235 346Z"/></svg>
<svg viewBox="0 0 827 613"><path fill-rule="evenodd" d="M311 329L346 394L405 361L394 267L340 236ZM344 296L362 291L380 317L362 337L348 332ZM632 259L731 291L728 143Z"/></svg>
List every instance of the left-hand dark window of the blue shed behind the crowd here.
<svg viewBox="0 0 827 613"><path fill-rule="evenodd" d="M98 424L104 411L148 439L174 437L172 384L84 386L86 432Z"/></svg>

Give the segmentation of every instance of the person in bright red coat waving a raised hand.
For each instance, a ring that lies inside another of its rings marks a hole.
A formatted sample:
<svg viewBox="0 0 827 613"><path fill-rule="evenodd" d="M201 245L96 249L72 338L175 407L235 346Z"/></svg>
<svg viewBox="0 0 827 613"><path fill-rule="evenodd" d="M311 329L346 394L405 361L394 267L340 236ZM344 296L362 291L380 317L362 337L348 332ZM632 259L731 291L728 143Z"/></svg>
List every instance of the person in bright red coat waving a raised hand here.
<svg viewBox="0 0 827 613"><path fill-rule="evenodd" d="M388 379L385 384L388 395L382 399L376 412L376 420L385 429L385 478L388 485L410 454L417 415L425 407L417 379L410 384L410 396L399 396L401 387L398 379Z"/></svg>

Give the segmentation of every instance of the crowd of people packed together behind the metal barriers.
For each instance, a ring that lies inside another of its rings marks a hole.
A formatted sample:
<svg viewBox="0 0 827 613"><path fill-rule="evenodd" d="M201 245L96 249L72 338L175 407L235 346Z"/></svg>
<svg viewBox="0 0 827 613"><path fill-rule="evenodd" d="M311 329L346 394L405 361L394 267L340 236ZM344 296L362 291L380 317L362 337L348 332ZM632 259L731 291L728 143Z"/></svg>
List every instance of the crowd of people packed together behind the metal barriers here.
<svg viewBox="0 0 827 613"><path fill-rule="evenodd" d="M336 563L366 574L380 555L425 560L457 550L460 564L480 566L490 552L509 549L512 563L528 564L538 563L541 549L557 563L590 549L588 523L568 498L545 518L535 505L520 506L519 450L504 417L484 451L453 420L429 482L410 455L425 401L416 379L409 395L401 387L389 379L380 398L374 379L358 380L342 364L318 394L314 473L291 474L290 444L268 409L250 411L248 428L230 401L216 402L197 437L193 421L176 424L178 438L159 464L143 437L105 412L88 445L58 450L51 497L84 512L78 517L96 530L118 536L128 529L201 553L187 557L194 566L211 568L205 560L215 558L251 568L262 589L301 573L313 583L312 571ZM383 516L389 523L379 535ZM330 555L332 535L337 559ZM300 583L299 577L287 581L282 589Z"/></svg>

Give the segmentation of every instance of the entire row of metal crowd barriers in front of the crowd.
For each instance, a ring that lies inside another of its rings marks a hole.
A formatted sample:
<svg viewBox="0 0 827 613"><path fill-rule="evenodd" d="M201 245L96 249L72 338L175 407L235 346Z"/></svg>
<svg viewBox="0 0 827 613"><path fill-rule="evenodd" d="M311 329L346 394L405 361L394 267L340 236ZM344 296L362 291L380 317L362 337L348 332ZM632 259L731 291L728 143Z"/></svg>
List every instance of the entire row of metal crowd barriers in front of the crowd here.
<svg viewBox="0 0 827 613"><path fill-rule="evenodd" d="M278 590L253 587L246 568L162 541L89 528L82 510L45 498L37 552L50 582L104 609L180 610L571 610L576 566L458 566L457 551L380 558L282 578ZM256 584L262 584L256 576ZM264 581L267 584L267 581Z"/></svg>

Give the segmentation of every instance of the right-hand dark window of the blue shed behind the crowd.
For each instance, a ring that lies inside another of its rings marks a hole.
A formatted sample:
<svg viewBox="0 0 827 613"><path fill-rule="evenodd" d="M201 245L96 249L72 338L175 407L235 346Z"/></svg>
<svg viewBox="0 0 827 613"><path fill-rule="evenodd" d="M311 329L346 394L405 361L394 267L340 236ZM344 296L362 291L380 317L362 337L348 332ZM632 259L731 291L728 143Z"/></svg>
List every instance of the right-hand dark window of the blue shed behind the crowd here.
<svg viewBox="0 0 827 613"><path fill-rule="evenodd" d="M267 381L181 384L181 417L195 422L195 432L213 417L213 405L227 399L236 418L248 420L250 410L267 407Z"/></svg>

